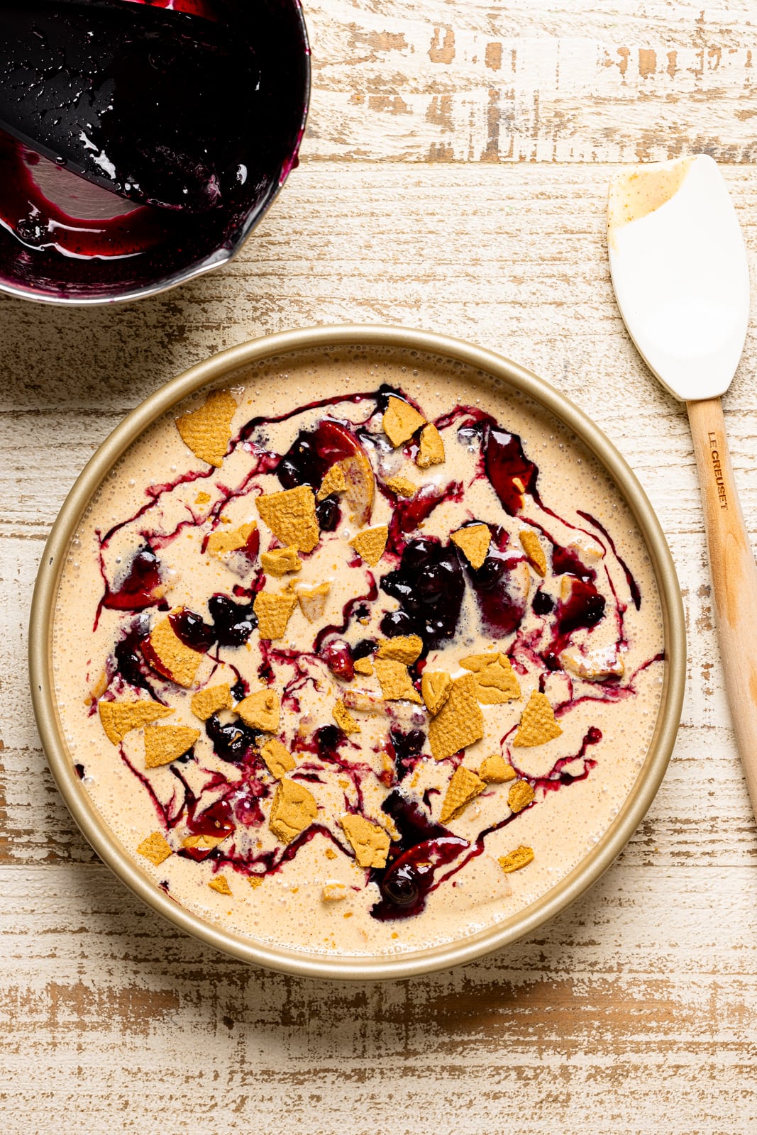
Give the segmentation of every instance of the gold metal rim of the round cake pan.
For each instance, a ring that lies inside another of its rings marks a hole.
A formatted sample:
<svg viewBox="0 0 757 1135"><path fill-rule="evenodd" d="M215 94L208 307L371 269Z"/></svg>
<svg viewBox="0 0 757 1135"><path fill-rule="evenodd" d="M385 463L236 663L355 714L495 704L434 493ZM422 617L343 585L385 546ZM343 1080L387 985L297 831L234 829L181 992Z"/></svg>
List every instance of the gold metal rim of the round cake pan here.
<svg viewBox="0 0 757 1135"><path fill-rule="evenodd" d="M125 851L78 780L62 737L52 681L52 619L68 547L90 499L128 446L187 395L241 378L253 363L303 350L344 346L441 355L493 376L505 388L520 390L550 411L604 465L629 505L654 566L663 612L666 664L655 733L633 789L604 836L565 878L510 918L443 945L396 956L328 956L274 947L224 930L180 907ZM30 675L42 745L72 816L103 863L153 910L202 942L250 965L310 977L403 978L462 965L532 933L583 894L623 850L657 792L675 742L685 679L683 605L667 543L633 472L602 430L542 379L491 351L443 335L375 325L308 328L243 343L197 363L133 410L103 442L68 494L45 545L32 602Z"/></svg>

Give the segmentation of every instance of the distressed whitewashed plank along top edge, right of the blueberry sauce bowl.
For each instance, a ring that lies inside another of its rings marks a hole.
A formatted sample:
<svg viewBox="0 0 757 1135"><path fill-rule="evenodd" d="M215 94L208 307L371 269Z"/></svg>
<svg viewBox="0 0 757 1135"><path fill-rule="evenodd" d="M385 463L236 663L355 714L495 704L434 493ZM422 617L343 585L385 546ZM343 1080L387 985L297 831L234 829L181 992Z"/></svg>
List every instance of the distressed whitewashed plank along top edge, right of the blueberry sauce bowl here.
<svg viewBox="0 0 757 1135"><path fill-rule="evenodd" d="M305 160L756 153L754 7L314 0Z"/></svg>

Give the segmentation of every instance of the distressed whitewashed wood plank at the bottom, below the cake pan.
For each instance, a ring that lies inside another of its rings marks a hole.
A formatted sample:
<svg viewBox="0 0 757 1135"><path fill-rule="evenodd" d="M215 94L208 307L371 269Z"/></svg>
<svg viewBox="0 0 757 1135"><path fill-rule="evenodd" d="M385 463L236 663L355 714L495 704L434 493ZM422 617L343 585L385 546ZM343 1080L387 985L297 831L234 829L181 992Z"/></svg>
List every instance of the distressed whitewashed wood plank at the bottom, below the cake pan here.
<svg viewBox="0 0 757 1135"><path fill-rule="evenodd" d="M212 953L102 867L3 868L0 1117L19 1129L33 1063L27 1130L52 1129L52 1111L96 1132L115 1109L153 1135L170 1100L219 1135L253 1117L269 1135L483 1133L505 1115L523 1135L636 1135L659 1130L666 1101L666 1132L737 1129L720 1124L724 1096L733 1124L754 1113L757 916L740 906L754 872L622 873L548 935L464 970L333 985Z"/></svg>

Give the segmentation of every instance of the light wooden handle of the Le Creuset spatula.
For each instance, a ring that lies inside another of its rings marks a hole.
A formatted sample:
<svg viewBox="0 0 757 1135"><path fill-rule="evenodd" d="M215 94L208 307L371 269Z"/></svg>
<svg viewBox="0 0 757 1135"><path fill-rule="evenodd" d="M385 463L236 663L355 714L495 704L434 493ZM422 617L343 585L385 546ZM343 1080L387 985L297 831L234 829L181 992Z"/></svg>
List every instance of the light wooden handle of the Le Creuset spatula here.
<svg viewBox="0 0 757 1135"><path fill-rule="evenodd" d="M705 506L725 689L757 817L757 564L737 495L720 398L687 402Z"/></svg>

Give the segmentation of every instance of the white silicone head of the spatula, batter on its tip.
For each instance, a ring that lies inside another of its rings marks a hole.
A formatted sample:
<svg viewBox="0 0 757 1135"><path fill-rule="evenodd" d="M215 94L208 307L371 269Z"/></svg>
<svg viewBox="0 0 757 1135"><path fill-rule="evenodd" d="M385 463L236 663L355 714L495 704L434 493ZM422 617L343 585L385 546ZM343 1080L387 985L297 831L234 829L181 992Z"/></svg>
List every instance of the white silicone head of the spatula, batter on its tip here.
<svg viewBox="0 0 757 1135"><path fill-rule="evenodd" d="M749 269L716 162L697 154L619 174L607 244L621 314L650 370L676 398L723 394L747 334Z"/></svg>

